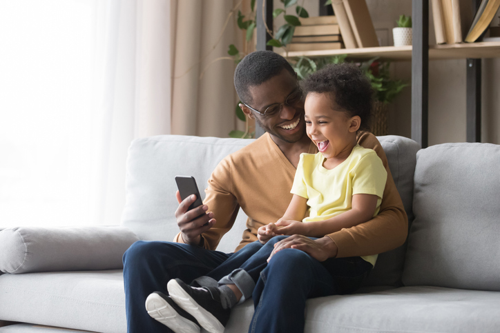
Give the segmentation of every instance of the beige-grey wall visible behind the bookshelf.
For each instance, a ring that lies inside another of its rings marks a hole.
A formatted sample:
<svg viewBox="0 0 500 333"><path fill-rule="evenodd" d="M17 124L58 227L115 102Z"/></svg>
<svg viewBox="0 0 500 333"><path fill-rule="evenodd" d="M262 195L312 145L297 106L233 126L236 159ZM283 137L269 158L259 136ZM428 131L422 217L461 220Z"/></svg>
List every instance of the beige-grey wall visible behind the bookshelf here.
<svg viewBox="0 0 500 333"><path fill-rule="evenodd" d="M298 1L299 3L301 1ZM369 12L378 30L379 37L387 33L392 45L390 28L396 26L400 14L411 15L411 0L367 0ZM274 1L275 8L282 6ZM305 0L304 7L309 15L318 14L318 0ZM431 6L430 6L431 7ZM277 22L279 24L279 22ZM434 24L430 12L429 43L433 45ZM482 141L500 144L500 58L483 59L482 92ZM410 61L392 64L396 79L411 82ZM465 136L465 59L433 60L429 63L429 145L446 142L464 142ZM411 137L411 87L405 88L390 108L390 134Z"/></svg>

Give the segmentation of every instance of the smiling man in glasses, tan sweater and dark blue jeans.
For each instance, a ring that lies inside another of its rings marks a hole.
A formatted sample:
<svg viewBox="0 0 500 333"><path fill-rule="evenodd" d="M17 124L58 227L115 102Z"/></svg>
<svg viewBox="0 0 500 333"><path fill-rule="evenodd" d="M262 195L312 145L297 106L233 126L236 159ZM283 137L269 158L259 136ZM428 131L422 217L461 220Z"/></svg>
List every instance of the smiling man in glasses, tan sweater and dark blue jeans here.
<svg viewBox="0 0 500 333"><path fill-rule="evenodd" d="M166 283L174 278L191 283L204 275L222 278L225 274L218 274L224 271L222 268L238 268L258 252L262 245L253 243L258 228L278 221L291 200L289 191L300 153L317 152L305 134L304 103L296 99L299 90L296 74L283 57L269 51L249 54L236 68L235 88L243 112L267 133L221 161L209 179L204 205L187 211L194 198L180 202L175 212L180 234L175 243L137 242L126 252L128 332L198 332L200 325L205 327L206 323L199 323L172 301ZM352 292L369 272L360 272L354 265L339 268L338 276L331 279L329 273L325 274L323 261L378 254L404 243L407 216L387 158L373 134L360 132L358 143L374 149L387 170L381 211L366 223L320 239L299 235L276 239L276 250L293 245L296 251L271 253L273 259L253 291L258 311L253 315L251 332L302 332L307 298ZM177 200L180 201L178 193ZM231 229L240 207L249 216L247 230L237 248L241 250L235 254L213 251L222 235ZM197 218L200 214L202 217ZM235 276L235 285L237 280ZM204 286L203 281L196 283ZM231 290L242 292L238 288ZM144 311L146 297L146 307L156 321ZM227 300L219 297L224 305ZM215 317L223 330L227 318L220 311ZM220 330L221 327L213 327L212 332Z"/></svg>

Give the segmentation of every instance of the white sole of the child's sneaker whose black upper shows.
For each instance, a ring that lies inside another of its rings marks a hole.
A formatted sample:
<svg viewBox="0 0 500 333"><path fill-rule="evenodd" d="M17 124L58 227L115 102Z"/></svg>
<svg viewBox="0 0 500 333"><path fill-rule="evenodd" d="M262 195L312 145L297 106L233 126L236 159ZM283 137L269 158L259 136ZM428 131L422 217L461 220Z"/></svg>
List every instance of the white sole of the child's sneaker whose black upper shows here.
<svg viewBox="0 0 500 333"><path fill-rule="evenodd" d="M182 287L172 279L167 283L166 289L169 290L169 295L177 305L182 307L186 312L200 323L200 325L210 333L224 333L224 326L217 318L203 307L198 305L196 301Z"/></svg>

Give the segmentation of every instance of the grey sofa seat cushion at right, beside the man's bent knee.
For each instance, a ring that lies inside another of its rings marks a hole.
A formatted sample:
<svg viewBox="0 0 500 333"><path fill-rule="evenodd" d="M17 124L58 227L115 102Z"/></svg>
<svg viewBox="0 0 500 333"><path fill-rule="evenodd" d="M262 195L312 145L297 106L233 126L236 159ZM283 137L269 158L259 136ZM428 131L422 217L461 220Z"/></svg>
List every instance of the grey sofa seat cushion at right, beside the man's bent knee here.
<svg viewBox="0 0 500 333"><path fill-rule="evenodd" d="M306 333L499 332L500 293L443 287L400 287L383 292L307 301ZM224 332L247 332L253 303L238 305ZM293 319L290 319L293 320Z"/></svg>

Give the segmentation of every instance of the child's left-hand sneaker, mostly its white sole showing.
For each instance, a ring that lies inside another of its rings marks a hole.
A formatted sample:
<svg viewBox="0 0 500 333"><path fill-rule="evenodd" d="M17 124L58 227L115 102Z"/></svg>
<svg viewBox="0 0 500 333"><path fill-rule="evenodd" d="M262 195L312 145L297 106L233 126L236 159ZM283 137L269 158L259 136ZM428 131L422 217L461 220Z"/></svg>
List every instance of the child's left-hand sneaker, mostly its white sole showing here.
<svg viewBox="0 0 500 333"><path fill-rule="evenodd" d="M200 333L200 324L162 292L153 292L146 299L148 314L175 333Z"/></svg>

